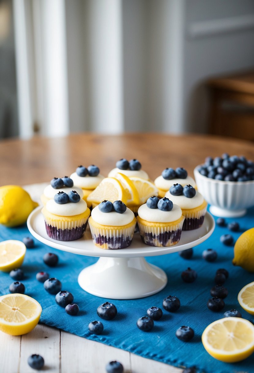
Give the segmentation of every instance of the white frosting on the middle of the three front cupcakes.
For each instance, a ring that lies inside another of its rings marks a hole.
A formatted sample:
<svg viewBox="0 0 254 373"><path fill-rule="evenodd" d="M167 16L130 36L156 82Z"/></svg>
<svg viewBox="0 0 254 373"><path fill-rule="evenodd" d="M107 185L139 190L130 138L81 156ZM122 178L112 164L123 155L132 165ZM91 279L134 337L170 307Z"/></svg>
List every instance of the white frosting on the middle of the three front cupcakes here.
<svg viewBox="0 0 254 373"><path fill-rule="evenodd" d="M112 225L117 227L127 225L134 219L134 214L130 209L128 209L128 207L123 214L120 214L115 211L102 212L99 210L99 206L96 206L94 209L92 209L91 216L98 224Z"/></svg>

